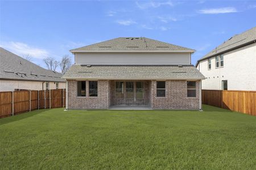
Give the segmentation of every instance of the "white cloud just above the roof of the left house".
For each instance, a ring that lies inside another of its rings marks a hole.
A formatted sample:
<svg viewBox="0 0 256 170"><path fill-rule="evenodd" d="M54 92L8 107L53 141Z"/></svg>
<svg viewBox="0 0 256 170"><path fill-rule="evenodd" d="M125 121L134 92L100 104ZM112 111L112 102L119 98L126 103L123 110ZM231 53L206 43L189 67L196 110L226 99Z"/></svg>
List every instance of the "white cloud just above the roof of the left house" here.
<svg viewBox="0 0 256 170"><path fill-rule="evenodd" d="M17 54L18 56L30 56L33 58L46 58L49 56L49 52L45 49L35 48L33 46L27 45L23 42L1 42L0 46L11 52Z"/></svg>

